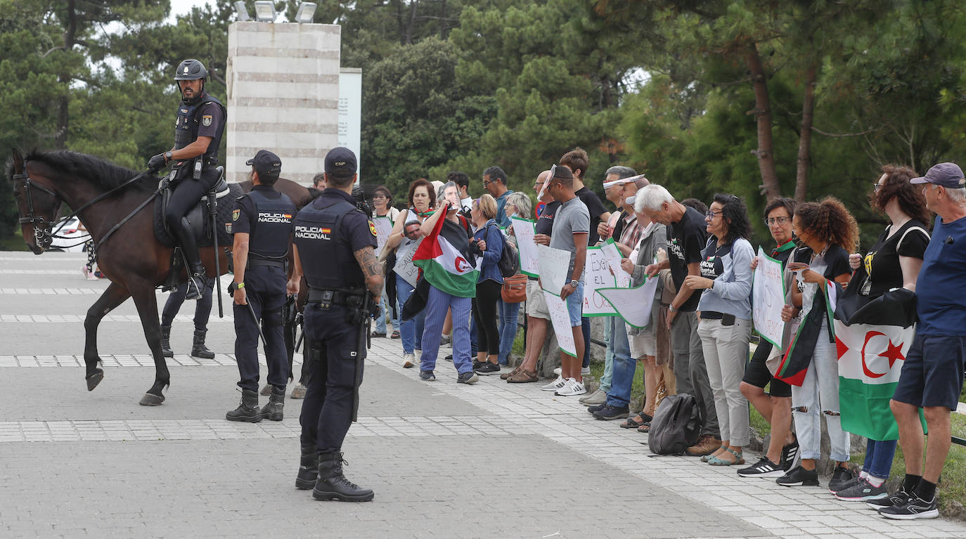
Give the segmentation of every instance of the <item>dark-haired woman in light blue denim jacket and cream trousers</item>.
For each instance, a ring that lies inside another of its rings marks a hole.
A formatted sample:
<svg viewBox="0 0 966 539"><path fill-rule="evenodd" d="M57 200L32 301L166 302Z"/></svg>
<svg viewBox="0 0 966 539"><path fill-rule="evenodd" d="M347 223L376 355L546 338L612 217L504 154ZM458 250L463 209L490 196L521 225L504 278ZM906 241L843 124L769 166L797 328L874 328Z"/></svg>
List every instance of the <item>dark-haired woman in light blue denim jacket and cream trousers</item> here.
<svg viewBox="0 0 966 539"><path fill-rule="evenodd" d="M701 252L701 274L689 275L684 286L701 294L697 310L701 321L704 363L715 398L722 445L707 458L711 466L745 464L742 448L749 442L748 399L741 394L741 379L752 337L752 259L754 248L745 203L733 194L718 193L704 222L708 244Z"/></svg>

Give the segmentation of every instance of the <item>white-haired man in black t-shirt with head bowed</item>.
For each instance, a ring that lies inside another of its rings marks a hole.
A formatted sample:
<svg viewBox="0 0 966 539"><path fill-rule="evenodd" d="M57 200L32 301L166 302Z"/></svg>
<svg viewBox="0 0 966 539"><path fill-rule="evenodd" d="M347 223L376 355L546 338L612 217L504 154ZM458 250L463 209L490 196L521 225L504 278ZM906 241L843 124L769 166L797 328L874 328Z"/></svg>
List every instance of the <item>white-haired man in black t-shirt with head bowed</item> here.
<svg viewBox="0 0 966 539"><path fill-rule="evenodd" d="M651 264L644 271L655 276L658 271L669 268L677 288L677 296L668 306L666 321L670 328L677 392L694 395L697 405L704 411L701 437L688 448L688 454L696 457L709 455L721 447L722 440L701 339L697 336L696 309L701 291L684 284L688 275L701 274L701 250L707 242L704 215L674 200L668 189L656 184L638 191L634 209L668 227L667 260Z"/></svg>

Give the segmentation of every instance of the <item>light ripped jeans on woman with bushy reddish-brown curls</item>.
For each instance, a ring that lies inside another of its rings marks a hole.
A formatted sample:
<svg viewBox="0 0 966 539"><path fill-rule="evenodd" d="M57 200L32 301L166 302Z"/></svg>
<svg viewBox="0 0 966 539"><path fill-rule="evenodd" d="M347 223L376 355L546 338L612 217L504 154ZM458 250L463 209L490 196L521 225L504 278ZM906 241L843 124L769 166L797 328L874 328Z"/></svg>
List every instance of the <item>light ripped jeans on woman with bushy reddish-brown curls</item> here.
<svg viewBox="0 0 966 539"><path fill-rule="evenodd" d="M829 458L848 461L848 433L842 430L838 415L838 353L836 343L829 342L828 322L822 323L805 381L801 387L791 386L791 410L803 459L818 459L822 455L824 413L832 446Z"/></svg>

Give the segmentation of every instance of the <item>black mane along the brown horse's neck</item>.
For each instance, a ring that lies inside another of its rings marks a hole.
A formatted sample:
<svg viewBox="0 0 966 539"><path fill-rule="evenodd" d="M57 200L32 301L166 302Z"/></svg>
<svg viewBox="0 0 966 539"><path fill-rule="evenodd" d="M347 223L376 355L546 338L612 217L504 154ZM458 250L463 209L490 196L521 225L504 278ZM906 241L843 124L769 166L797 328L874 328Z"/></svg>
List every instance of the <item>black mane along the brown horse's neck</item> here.
<svg viewBox="0 0 966 539"><path fill-rule="evenodd" d="M101 190L108 191L124 184L138 175L138 172L118 166L110 161L96 156L79 154L68 150L40 152L32 150L24 157L26 161L39 161L54 171L65 176L76 176L87 180ZM7 163L7 177L13 174L13 163ZM157 176L147 174L128 188L141 191L153 191L157 187Z"/></svg>

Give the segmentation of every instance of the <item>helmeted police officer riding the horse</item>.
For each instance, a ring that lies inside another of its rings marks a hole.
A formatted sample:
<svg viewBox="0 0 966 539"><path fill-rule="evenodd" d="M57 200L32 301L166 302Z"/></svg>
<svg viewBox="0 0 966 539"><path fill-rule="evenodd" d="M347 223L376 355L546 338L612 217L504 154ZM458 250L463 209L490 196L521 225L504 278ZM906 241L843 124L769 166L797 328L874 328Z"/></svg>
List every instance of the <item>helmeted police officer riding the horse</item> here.
<svg viewBox="0 0 966 539"><path fill-rule="evenodd" d="M178 65L175 80L182 94L175 122L175 145L170 151L151 157L148 168L160 170L172 164L175 177L171 198L164 212L168 230L178 239L188 265L186 299L201 298L205 289L205 268L198 244L185 214L218 181L218 147L225 128L225 106L205 92L208 70L201 62L187 59Z"/></svg>

